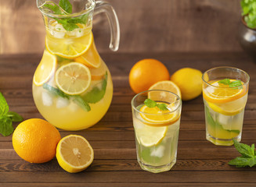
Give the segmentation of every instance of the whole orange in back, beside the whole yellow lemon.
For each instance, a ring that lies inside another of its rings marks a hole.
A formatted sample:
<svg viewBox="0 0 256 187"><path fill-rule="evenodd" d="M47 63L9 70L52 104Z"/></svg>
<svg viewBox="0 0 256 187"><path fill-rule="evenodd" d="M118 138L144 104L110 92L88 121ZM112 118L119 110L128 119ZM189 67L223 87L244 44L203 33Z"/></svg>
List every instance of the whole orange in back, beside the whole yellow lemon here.
<svg viewBox="0 0 256 187"><path fill-rule="evenodd" d="M165 65L151 58L135 63L129 73L129 83L136 94L148 90L160 80L168 79L170 79L170 74Z"/></svg>

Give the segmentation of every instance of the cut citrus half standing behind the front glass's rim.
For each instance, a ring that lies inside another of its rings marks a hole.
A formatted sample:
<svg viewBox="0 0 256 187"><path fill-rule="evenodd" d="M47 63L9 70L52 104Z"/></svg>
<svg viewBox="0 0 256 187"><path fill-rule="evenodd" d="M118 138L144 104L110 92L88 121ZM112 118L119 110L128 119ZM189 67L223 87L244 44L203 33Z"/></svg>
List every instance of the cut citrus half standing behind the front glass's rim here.
<svg viewBox="0 0 256 187"><path fill-rule="evenodd" d="M159 81L157 83L154 83L152 86L150 86L149 90L167 90L170 91L174 94L177 94L178 97L182 97L181 91L179 90L178 86L173 83L171 80L164 80L164 81ZM158 93L158 92L150 92L149 96L150 99L153 101L168 101L170 99L170 94L165 94L163 93ZM164 99L165 97L168 97ZM174 101L176 100L175 96ZM172 101L173 102L173 101Z"/></svg>

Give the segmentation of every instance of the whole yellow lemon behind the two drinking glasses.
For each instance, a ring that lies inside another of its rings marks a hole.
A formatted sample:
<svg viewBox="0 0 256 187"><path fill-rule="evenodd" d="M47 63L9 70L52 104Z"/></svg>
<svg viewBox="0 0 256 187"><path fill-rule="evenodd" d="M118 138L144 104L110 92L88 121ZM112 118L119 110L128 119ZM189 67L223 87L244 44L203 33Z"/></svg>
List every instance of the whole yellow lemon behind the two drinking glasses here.
<svg viewBox="0 0 256 187"><path fill-rule="evenodd" d="M171 81L181 90L183 101L192 100L202 93L202 72L198 69L178 69L171 76Z"/></svg>

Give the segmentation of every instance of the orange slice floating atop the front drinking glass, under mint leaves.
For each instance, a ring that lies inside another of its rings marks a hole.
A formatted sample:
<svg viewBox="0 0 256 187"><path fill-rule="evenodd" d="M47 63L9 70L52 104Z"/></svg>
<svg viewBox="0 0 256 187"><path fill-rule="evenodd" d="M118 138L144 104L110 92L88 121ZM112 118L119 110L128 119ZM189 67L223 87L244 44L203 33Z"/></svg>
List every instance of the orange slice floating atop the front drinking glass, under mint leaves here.
<svg viewBox="0 0 256 187"><path fill-rule="evenodd" d="M160 102L158 103L160 104ZM159 108L149 108L146 105L142 106L140 110L142 113L140 113L141 117L146 121L150 122L147 123L147 125L152 126L166 126L174 124L178 121L179 115L178 111L170 112L167 111L161 111Z"/></svg>

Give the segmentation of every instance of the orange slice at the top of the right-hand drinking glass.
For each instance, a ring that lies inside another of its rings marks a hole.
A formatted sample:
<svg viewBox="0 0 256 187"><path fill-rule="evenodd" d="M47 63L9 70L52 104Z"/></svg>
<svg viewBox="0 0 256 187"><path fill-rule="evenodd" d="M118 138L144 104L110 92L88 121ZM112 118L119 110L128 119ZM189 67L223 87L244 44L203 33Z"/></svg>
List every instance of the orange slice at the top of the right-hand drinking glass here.
<svg viewBox="0 0 256 187"><path fill-rule="evenodd" d="M235 79L230 79L233 82ZM235 101L240 97L243 97L247 94L247 87L245 85L241 86L241 88L232 88L229 85L218 84L218 81L211 83L212 86L207 86L203 90L203 97L206 101L222 104L230 101Z"/></svg>

